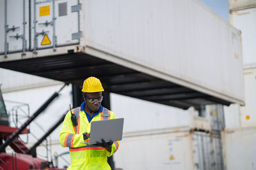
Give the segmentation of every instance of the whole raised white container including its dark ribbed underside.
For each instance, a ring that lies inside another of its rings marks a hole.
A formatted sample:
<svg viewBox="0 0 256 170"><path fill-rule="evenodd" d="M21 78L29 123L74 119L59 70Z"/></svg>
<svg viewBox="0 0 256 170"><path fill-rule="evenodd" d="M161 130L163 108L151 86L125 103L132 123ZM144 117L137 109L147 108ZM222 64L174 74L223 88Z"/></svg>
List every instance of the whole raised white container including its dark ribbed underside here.
<svg viewBox="0 0 256 170"><path fill-rule="evenodd" d="M0 67L188 109L244 104L241 34L198 0L0 1Z"/></svg>

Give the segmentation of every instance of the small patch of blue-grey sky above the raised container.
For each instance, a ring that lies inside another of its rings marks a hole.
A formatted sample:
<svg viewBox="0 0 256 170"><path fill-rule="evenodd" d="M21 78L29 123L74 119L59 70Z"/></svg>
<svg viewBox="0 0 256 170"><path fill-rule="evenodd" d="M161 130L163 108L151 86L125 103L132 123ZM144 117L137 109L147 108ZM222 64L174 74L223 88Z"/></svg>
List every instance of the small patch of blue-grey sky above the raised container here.
<svg viewBox="0 0 256 170"><path fill-rule="evenodd" d="M209 6L212 11L220 15L229 22L229 10L228 10L228 0L201 0L202 3Z"/></svg>

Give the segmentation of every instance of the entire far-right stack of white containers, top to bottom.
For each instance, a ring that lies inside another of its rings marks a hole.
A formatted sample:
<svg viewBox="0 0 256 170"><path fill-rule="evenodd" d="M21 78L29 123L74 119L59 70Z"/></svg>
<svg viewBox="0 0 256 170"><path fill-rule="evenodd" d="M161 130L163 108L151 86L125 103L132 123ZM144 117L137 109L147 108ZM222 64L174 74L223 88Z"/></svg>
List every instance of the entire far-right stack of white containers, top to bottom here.
<svg viewBox="0 0 256 170"><path fill-rule="evenodd" d="M246 105L225 108L224 160L227 169L256 169L256 1L228 3L230 24L241 30Z"/></svg>

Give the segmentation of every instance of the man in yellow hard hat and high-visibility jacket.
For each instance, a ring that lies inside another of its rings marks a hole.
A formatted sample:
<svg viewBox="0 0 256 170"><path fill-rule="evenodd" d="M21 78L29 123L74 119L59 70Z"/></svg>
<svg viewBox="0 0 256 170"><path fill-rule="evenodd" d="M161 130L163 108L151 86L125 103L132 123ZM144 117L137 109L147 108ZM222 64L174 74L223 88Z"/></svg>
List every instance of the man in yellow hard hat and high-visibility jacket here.
<svg viewBox="0 0 256 170"><path fill-rule="evenodd" d="M111 169L107 157L113 155L119 141L102 140L95 145L86 145L90 141L91 122L116 118L115 114L101 106L104 89L100 80L89 77L83 83L84 103L68 111L60 132L61 146L68 147L71 165L68 169Z"/></svg>

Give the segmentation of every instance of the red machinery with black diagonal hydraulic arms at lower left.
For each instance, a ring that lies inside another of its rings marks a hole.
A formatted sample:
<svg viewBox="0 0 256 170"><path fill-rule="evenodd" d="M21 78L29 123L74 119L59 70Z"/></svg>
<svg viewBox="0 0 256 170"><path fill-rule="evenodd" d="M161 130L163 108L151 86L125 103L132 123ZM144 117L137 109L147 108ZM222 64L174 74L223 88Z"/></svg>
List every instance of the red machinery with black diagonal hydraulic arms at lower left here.
<svg viewBox="0 0 256 170"><path fill-rule="evenodd" d="M64 86L65 87L65 86ZM62 90L63 87L60 89ZM59 91L60 92L60 91ZM34 146L28 148L20 139L19 134L27 134L29 130L26 127L53 101L59 92L55 92L25 124L20 128L10 127L8 115L3 101L3 96L0 89L0 169L2 170L32 170L32 169L48 169L62 170L54 167L52 162L36 157L36 146L61 124L64 117L52 127ZM6 146L10 146L15 153L6 153ZM64 169L63 169L64 170Z"/></svg>

